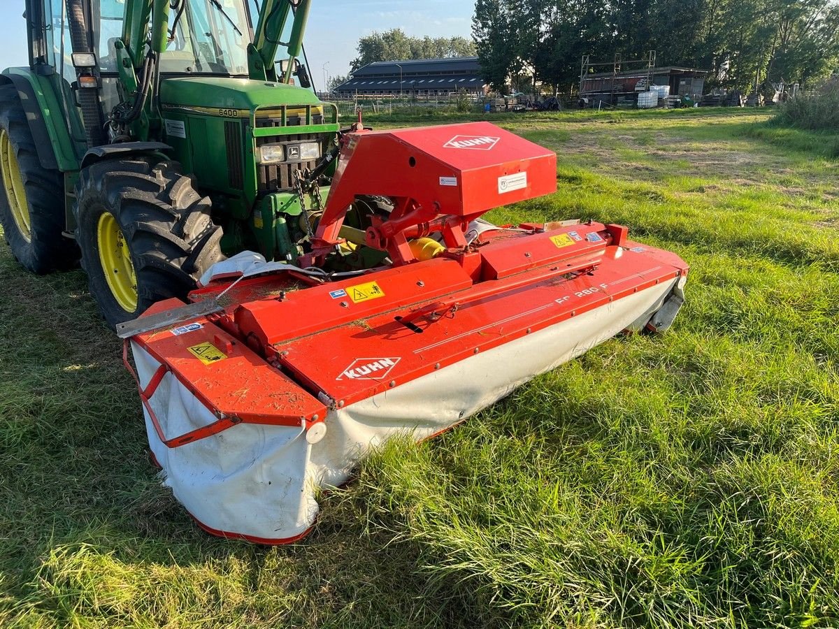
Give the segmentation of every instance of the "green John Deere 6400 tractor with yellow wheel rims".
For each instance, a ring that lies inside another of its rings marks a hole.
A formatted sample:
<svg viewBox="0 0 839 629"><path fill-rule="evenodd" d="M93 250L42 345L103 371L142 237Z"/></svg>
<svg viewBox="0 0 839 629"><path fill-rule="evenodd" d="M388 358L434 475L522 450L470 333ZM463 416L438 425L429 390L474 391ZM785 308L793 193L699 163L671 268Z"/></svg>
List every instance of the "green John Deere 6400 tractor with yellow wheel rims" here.
<svg viewBox="0 0 839 629"><path fill-rule="evenodd" d="M213 263L291 261L338 153L311 89L310 0L26 0L0 75L0 221L34 273L85 269L109 325ZM279 59L279 61L278 61Z"/></svg>

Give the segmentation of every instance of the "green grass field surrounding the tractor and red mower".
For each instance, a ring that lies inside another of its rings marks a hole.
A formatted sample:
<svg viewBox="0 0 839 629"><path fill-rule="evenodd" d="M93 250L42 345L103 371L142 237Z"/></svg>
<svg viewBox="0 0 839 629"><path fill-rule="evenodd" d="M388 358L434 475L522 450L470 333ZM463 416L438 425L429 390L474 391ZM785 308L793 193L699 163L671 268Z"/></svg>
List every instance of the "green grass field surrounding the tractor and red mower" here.
<svg viewBox="0 0 839 629"><path fill-rule="evenodd" d="M758 112L498 120L557 151L559 190L491 218L678 252L675 328L389 446L304 543L257 548L159 486L81 272L0 247L0 626L839 626L839 137Z"/></svg>

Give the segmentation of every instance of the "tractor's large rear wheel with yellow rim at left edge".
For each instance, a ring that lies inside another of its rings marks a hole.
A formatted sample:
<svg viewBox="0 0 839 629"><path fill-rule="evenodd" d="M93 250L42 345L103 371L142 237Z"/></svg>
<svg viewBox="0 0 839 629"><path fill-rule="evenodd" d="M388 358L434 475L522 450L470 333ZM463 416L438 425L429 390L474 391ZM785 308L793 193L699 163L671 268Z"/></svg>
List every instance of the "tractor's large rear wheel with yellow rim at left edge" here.
<svg viewBox="0 0 839 629"><path fill-rule="evenodd" d="M38 159L14 86L0 86L0 223L18 263L32 273L76 265L78 251L62 235L64 177Z"/></svg>

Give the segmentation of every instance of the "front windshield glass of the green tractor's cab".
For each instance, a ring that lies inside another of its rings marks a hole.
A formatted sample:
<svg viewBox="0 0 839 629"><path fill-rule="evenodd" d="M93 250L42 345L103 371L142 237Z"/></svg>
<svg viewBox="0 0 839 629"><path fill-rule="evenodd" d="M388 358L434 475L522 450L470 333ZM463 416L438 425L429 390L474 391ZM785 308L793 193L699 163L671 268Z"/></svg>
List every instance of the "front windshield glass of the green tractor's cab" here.
<svg viewBox="0 0 839 629"><path fill-rule="evenodd" d="M175 0L163 72L248 75L250 22L242 0Z"/></svg>

